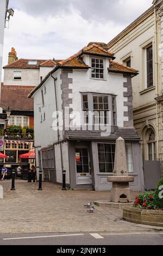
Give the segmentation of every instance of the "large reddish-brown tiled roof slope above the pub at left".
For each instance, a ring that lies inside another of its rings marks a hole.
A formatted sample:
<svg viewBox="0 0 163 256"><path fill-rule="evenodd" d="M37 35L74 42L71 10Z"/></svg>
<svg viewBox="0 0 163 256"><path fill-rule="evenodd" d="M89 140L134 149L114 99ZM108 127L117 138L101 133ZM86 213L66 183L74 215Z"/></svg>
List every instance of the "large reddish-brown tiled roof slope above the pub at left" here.
<svg viewBox="0 0 163 256"><path fill-rule="evenodd" d="M34 111L33 99L28 94L33 86L1 86L1 102L3 109L10 107L12 111Z"/></svg>

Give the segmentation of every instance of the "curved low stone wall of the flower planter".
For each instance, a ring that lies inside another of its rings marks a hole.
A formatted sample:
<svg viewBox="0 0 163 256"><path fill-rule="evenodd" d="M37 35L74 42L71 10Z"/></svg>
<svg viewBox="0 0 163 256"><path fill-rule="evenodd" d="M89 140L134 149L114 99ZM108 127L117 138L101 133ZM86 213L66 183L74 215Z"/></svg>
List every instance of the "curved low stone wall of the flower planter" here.
<svg viewBox="0 0 163 256"><path fill-rule="evenodd" d="M163 211L136 209L131 206L123 209L126 221L163 227Z"/></svg>

